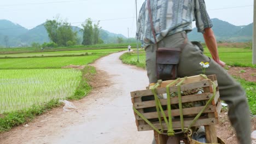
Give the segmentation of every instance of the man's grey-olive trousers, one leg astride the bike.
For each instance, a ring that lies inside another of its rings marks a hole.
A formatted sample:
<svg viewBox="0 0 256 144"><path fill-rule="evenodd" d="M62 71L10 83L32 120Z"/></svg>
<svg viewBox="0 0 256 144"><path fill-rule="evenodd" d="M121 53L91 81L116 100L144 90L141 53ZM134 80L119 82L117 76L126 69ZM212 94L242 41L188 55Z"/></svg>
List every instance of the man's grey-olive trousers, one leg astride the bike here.
<svg viewBox="0 0 256 144"><path fill-rule="evenodd" d="M159 41L159 47L178 47L184 43L187 34L179 32L170 35ZM156 45L146 47L146 68L149 83L155 83L156 78ZM229 105L228 116L232 127L235 128L237 139L241 144L251 143L251 121L246 93L240 83L236 82L218 63L203 55L199 47L189 41L181 52L177 74L178 77L193 76L202 74L200 62L209 62L210 67L206 68L206 75L217 75L220 99Z"/></svg>

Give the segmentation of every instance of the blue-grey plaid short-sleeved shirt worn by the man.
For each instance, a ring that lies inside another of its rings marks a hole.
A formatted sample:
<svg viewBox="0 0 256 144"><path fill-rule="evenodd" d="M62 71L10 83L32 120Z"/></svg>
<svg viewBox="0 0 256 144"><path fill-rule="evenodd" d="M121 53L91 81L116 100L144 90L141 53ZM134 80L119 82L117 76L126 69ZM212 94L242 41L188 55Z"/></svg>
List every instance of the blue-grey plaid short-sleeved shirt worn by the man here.
<svg viewBox="0 0 256 144"><path fill-rule="evenodd" d="M174 33L192 31L192 21L196 21L197 31L203 33L212 27L204 0L149 0L152 11L156 42ZM139 11L137 39L144 47L155 43L148 14L147 0Z"/></svg>

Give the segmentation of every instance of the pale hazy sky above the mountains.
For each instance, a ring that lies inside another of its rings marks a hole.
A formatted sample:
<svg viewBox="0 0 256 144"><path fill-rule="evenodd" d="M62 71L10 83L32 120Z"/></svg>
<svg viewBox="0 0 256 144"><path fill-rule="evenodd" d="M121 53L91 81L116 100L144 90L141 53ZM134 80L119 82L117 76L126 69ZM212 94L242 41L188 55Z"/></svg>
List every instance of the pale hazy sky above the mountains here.
<svg viewBox="0 0 256 144"><path fill-rule="evenodd" d="M144 0L137 0L137 13ZM252 0L205 0L208 14L233 25L253 22ZM135 0L8 0L0 3L0 19L31 29L59 15L73 26L81 26L89 17L100 20L109 32L135 36Z"/></svg>

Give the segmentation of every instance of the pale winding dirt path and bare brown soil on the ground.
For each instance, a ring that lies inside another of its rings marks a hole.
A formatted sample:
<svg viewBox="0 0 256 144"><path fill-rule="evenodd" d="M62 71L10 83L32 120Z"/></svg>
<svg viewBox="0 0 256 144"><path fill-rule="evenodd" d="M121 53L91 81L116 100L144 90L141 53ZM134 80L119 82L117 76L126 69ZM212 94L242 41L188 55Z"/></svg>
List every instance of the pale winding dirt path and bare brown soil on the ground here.
<svg viewBox="0 0 256 144"><path fill-rule="evenodd" d="M122 64L118 59L122 53L113 53L92 64L97 69L91 82L94 90L87 97L72 101L77 110L63 112L59 107L48 111L27 123L28 127L24 124L0 134L0 143L151 143L152 131L137 131L130 99L131 91L148 85L147 74L143 69ZM237 73L242 69L246 73ZM252 81L255 72L250 68L229 68L229 73ZM256 130L255 118L252 124ZM217 135L227 144L237 143L226 112L216 128Z"/></svg>

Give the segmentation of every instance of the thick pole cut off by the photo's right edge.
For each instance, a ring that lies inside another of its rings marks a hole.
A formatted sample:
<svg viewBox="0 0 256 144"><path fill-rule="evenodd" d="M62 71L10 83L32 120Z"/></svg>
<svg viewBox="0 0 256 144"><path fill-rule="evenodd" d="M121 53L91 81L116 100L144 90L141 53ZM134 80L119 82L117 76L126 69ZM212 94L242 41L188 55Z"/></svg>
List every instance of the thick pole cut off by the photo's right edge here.
<svg viewBox="0 0 256 144"><path fill-rule="evenodd" d="M256 0L254 0L253 8L253 64L256 64Z"/></svg>

